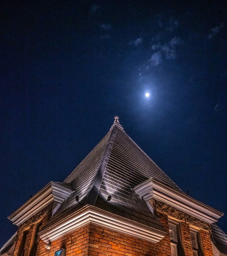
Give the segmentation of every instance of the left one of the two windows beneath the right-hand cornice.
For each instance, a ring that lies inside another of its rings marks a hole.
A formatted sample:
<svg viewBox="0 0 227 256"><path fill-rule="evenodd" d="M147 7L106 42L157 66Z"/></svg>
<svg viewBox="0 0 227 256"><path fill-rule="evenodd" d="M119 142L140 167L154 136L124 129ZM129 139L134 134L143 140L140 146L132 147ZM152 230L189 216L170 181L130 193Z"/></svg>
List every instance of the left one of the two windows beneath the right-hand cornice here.
<svg viewBox="0 0 227 256"><path fill-rule="evenodd" d="M170 243L171 243L171 252L172 256L183 255L183 249L180 240L180 228L177 223L169 223L170 231Z"/></svg>

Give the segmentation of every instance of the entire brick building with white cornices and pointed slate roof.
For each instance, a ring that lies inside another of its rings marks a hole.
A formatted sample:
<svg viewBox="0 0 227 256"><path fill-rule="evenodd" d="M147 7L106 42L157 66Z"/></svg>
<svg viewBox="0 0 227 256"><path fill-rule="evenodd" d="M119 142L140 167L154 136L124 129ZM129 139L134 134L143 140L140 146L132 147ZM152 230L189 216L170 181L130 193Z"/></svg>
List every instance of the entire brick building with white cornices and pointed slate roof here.
<svg viewBox="0 0 227 256"><path fill-rule="evenodd" d="M186 195L125 133L118 117L63 182L8 218L2 256L227 255L223 214Z"/></svg>

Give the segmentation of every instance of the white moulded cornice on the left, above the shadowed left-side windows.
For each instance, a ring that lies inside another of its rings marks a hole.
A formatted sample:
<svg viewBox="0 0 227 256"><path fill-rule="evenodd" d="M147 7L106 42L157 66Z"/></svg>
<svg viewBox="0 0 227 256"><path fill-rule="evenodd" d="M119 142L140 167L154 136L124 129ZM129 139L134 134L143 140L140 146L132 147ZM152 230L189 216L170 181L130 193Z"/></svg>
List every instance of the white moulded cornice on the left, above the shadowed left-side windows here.
<svg viewBox="0 0 227 256"><path fill-rule="evenodd" d="M72 189L62 186L61 183L50 182L12 213L8 219L19 226L53 201L62 203L71 193Z"/></svg>

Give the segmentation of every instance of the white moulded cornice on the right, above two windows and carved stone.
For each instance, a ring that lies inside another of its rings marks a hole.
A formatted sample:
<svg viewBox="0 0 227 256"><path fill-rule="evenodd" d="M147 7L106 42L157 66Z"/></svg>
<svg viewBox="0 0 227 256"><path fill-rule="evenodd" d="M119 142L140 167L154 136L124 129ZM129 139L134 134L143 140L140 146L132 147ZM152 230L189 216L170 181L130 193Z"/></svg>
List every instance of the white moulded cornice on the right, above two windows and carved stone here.
<svg viewBox="0 0 227 256"><path fill-rule="evenodd" d="M144 181L133 189L146 201L151 198L156 199L210 224L217 222L223 215L222 212L163 185L154 178Z"/></svg>

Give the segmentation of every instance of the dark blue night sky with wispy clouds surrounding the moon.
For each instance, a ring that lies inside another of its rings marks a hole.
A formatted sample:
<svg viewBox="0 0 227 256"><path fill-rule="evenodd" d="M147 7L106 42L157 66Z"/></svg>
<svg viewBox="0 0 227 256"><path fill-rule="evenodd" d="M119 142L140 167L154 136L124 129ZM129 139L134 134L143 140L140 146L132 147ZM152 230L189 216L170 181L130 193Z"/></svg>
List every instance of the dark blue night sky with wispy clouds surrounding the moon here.
<svg viewBox="0 0 227 256"><path fill-rule="evenodd" d="M226 1L184 2L1 1L0 246L17 229L7 216L63 181L115 115L227 214Z"/></svg>

